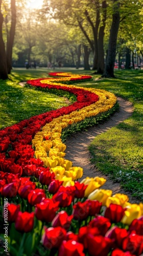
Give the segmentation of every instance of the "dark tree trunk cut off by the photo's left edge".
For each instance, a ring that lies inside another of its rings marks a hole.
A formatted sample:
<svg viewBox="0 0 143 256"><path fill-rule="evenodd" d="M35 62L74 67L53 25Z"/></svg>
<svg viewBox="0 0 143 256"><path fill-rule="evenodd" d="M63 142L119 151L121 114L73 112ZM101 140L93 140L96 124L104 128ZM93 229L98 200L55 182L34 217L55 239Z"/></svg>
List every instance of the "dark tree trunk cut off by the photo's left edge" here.
<svg viewBox="0 0 143 256"><path fill-rule="evenodd" d="M2 0L0 0L0 79L7 79L8 72L7 72L7 58L6 58L6 51L5 51L5 44L3 41L2 35L2 25L3 25L3 15L1 13L1 5Z"/></svg>

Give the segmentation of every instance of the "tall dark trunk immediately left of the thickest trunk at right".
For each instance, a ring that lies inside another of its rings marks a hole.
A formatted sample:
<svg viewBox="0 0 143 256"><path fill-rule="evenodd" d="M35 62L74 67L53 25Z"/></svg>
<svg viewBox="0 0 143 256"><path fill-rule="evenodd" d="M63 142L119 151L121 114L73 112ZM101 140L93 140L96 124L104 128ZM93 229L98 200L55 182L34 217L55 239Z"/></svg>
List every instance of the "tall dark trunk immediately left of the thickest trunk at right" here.
<svg viewBox="0 0 143 256"><path fill-rule="evenodd" d="M104 29L105 29L105 24L106 24L106 8L107 4L106 1L103 1L102 3L102 8L103 8L103 25L100 27L99 30L99 37L98 37L98 74L103 74L104 73Z"/></svg>

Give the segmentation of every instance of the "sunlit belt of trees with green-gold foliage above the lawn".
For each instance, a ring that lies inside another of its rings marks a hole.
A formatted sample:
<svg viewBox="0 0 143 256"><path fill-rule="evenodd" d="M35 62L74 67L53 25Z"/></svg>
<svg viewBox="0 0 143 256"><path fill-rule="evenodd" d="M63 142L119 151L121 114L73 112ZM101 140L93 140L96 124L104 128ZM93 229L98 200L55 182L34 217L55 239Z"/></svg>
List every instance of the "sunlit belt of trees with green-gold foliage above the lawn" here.
<svg viewBox="0 0 143 256"><path fill-rule="evenodd" d="M131 54L132 62L136 55L143 58L141 0L44 0L41 9L27 4L0 0L1 79L13 63L25 61L45 66L62 61L76 68L82 61L85 69L91 65L113 77L117 56L119 67L126 56L126 68Z"/></svg>

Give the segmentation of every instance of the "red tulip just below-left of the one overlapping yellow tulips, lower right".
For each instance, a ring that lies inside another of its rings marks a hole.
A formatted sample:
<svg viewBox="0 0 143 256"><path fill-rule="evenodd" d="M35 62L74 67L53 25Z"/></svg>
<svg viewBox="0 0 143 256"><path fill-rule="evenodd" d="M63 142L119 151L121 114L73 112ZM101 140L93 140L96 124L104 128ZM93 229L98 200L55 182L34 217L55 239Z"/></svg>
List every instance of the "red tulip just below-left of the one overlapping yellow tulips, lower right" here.
<svg viewBox="0 0 143 256"><path fill-rule="evenodd" d="M90 227L97 227L100 230L102 236L105 236L106 232L111 226L109 219L103 216L97 216L92 221L89 222Z"/></svg>

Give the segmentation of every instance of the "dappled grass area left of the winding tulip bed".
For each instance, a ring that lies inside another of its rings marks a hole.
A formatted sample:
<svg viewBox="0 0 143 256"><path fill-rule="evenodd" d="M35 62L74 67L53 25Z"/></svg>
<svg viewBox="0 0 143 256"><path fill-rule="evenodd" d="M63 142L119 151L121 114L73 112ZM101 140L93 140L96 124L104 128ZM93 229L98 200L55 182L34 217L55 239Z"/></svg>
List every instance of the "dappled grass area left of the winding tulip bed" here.
<svg viewBox="0 0 143 256"><path fill-rule="evenodd" d="M32 78L47 77L45 70L13 70L9 80L0 80L0 129L10 126L23 119L59 109L67 105L64 97L52 93L25 88L20 81Z"/></svg>

